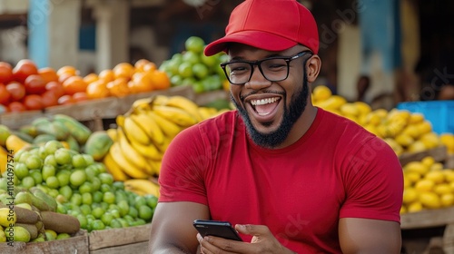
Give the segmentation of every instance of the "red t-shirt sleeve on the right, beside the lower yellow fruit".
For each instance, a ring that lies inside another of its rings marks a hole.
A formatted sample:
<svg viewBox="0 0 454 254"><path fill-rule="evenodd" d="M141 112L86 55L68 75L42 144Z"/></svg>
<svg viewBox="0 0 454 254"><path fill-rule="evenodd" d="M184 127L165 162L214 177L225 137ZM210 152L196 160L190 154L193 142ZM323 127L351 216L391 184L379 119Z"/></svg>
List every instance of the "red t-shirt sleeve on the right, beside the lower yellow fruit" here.
<svg viewBox="0 0 454 254"><path fill-rule="evenodd" d="M340 217L400 222L403 172L390 146L374 137L342 164L346 200Z"/></svg>

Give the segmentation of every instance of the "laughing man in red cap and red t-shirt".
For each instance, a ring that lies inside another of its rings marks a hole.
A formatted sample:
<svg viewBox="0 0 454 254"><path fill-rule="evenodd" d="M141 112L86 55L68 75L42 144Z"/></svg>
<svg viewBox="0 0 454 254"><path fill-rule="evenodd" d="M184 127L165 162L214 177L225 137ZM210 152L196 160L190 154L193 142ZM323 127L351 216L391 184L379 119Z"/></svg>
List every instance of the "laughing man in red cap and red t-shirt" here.
<svg viewBox="0 0 454 254"><path fill-rule="evenodd" d="M403 177L394 151L311 104L317 25L294 0L246 0L205 54L237 111L181 132L163 158L151 253L400 253ZM202 238L224 220L242 242Z"/></svg>

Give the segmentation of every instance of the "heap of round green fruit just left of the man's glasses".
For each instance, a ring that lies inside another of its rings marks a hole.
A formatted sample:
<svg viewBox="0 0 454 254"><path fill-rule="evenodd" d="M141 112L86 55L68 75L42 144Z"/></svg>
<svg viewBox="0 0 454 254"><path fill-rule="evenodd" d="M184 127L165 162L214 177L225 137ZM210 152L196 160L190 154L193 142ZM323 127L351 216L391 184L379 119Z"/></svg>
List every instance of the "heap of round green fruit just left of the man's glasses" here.
<svg viewBox="0 0 454 254"><path fill-rule="evenodd" d="M219 64L227 60L227 55L204 55L205 43L197 36L187 38L184 46L185 51L173 54L159 67L169 75L172 86L191 85L195 93L225 88L228 82Z"/></svg>

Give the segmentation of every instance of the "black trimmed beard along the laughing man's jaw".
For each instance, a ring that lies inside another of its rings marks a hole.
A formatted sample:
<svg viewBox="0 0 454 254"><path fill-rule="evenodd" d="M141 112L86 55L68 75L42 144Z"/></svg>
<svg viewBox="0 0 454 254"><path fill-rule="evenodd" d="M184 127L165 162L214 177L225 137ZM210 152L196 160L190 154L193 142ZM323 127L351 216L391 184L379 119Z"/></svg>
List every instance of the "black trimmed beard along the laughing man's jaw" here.
<svg viewBox="0 0 454 254"><path fill-rule="evenodd" d="M305 64L304 64L305 65ZM298 93L291 96L291 103L289 108L285 105L284 102L284 112L281 126L271 133L261 133L258 132L252 125L251 119L249 118L248 113L243 107L240 107L239 104L233 99L231 93L231 100L235 107L240 112L242 116L242 121L246 124L246 130L248 131L249 136L252 139L252 142L256 143L259 146L266 148L275 148L279 146L282 142L287 139L291 128L296 121L301 117L302 112L306 110L307 99L309 96L309 85L307 80L307 75L304 73L302 87Z"/></svg>

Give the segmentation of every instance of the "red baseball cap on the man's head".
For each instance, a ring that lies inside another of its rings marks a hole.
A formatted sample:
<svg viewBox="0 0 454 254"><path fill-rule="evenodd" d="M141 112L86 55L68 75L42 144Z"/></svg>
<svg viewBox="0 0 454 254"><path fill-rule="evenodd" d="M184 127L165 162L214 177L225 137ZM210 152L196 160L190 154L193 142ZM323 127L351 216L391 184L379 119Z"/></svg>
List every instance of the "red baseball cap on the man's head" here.
<svg viewBox="0 0 454 254"><path fill-rule="evenodd" d="M303 44L319 51L319 32L311 12L296 0L245 0L233 9L225 36L208 44L204 54L227 50L228 43L282 51Z"/></svg>

